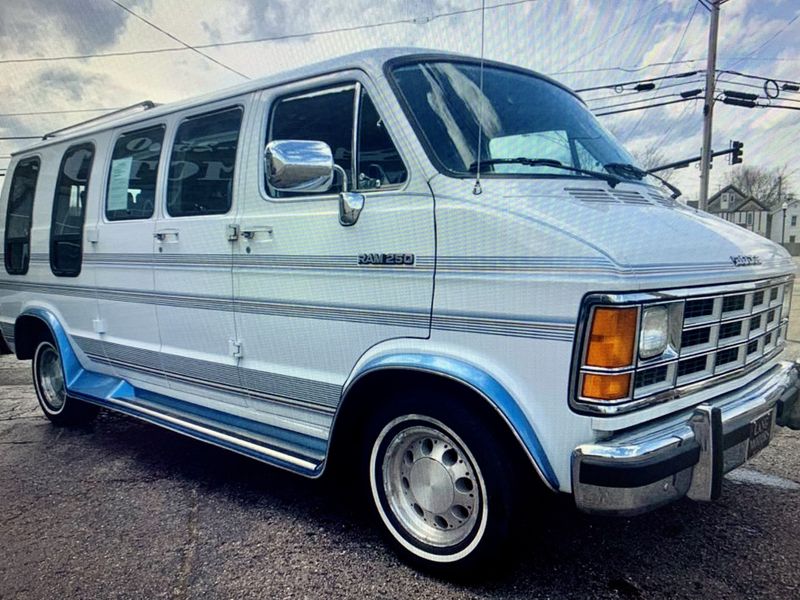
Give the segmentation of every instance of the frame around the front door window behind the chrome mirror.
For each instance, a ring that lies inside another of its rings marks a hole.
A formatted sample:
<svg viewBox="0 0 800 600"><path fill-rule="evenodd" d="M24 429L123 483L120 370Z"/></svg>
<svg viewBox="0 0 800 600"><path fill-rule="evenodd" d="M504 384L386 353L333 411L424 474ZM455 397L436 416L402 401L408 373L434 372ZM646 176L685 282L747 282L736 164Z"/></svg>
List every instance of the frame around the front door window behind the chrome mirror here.
<svg viewBox="0 0 800 600"><path fill-rule="evenodd" d="M267 88L267 89L263 90L264 92L275 92L276 90L280 90L281 88L284 88L284 87L287 87L287 86L290 87L290 88L293 88L289 92L278 93L278 95L271 96L270 98L268 98L268 100L266 102L262 102L263 106L261 107L261 110L259 111L261 113L260 125L259 125L259 128L260 128L259 129L259 140L260 140L260 143L259 143L259 146L258 146L258 149L257 149L257 152L256 152L256 159L258 160L258 182L259 182L258 183L258 189L259 189L259 192L261 193L261 199L262 200L265 200L266 202L274 202L274 203L316 202L316 201L320 201L320 200L337 200L338 201L338 199L339 199L339 193L338 192L320 192L320 193L317 193L317 194L303 194L303 195L298 194L297 196L290 196L290 197L286 197L286 198L270 196L269 195L269 190L267 190L267 174L266 174L266 169L265 169L265 165L264 165L264 148L266 148L266 145L268 143L267 140L269 139L269 135L270 135L270 132L272 130L272 119L273 119L273 115L275 113L275 106L278 104L278 102L280 102L281 100L284 100L285 98L289 98L289 97L292 97L292 96L300 96L300 95L303 95L303 94L312 94L312 93L317 92L317 91L324 91L324 90L327 90L327 89L333 89L333 88L337 88L337 87L345 87L345 86L348 86L348 85L355 85L355 87L356 87L355 91L357 92L355 94L355 96L354 96L354 108L356 109L356 112L354 112L354 114L353 114L353 142L351 142L351 143L354 144L354 146L353 146L354 147L354 151L353 151L353 155L351 157L351 164L354 165L354 166L351 167L351 169L353 170L353 172L355 172L357 170L357 164L358 164L357 163L357 158L356 158L357 151L355 150L355 148L356 148L356 143L357 143L357 138L358 138L358 131L359 131L358 128L357 128L357 123L358 123L358 119L359 119L360 114L361 114L360 111L361 111L361 104L362 104L361 98L360 98L360 95L359 95L358 92L359 92L359 90L363 90L366 93L370 94L370 96L372 98L372 103L375 105L375 110L378 111L379 115L381 115L381 119L383 120L384 125L386 126L386 132L389 134L389 139L392 141L392 144L394 145L395 149L397 150L397 154L400 157L400 160L402 161L403 167L405 168L406 174L407 174L405 180L403 180L402 183L393 184L391 186L386 186L386 187L383 187L383 188L380 188L380 189L361 190L361 191L356 190L357 193L365 194L365 195L368 195L368 196L376 196L376 195L380 195L380 194L382 194L384 192L387 192L387 193L395 192L396 193L398 191L404 191L406 188L408 188L408 186L411 183L411 177L412 177L411 169L408 168L409 161L406 160L406 157L405 157L405 155L403 153L403 149L401 148L400 144L397 143L397 138L392 134L391 127L389 126L389 124L386 123L385 111L382 111L381 107L378 105L378 103L375 102L376 94L374 93L374 91L372 91L370 89L370 86L367 85L364 81L362 81L362 78L358 76L361 73L362 73L361 71L358 71L357 73L355 73L352 70L338 71L338 72L334 72L334 73L328 73L328 74L325 74L325 75L322 75L322 76L315 76L313 78L313 80L293 81L293 82L287 83L285 85L281 85L281 86L278 86L278 87L275 87L275 88ZM320 83L318 81L320 79L320 77L330 77L330 76L341 77L341 79L337 78L337 79L335 79L333 81L325 82L325 83Z"/></svg>

